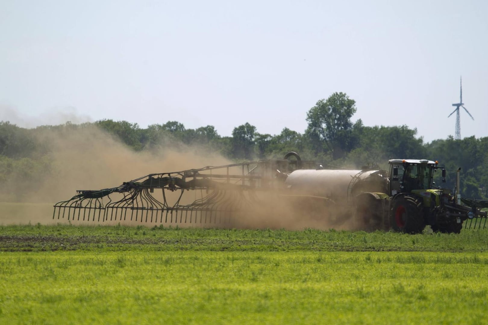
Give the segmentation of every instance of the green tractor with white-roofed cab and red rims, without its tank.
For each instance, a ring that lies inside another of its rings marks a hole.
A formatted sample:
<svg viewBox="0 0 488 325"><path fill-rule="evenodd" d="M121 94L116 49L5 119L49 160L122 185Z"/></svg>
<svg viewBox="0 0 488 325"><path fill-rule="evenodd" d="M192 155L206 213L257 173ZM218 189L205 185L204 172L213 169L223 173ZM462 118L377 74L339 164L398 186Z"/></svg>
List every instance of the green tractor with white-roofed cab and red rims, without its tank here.
<svg viewBox="0 0 488 325"><path fill-rule="evenodd" d="M433 231L460 233L463 222L474 217L486 217L487 212L469 208L460 202L459 170L456 195L450 190L436 187L434 172L442 171L446 182L446 169L437 161L426 159L390 159L388 178L389 228L406 233L420 233L426 225Z"/></svg>

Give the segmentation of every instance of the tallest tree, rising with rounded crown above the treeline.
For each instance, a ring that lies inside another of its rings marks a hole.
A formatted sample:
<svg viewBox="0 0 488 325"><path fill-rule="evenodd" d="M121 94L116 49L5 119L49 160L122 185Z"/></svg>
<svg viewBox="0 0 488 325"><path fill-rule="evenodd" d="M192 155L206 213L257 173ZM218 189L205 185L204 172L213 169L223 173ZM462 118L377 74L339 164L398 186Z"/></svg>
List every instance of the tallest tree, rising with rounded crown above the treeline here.
<svg viewBox="0 0 488 325"><path fill-rule="evenodd" d="M334 93L326 100L319 100L307 113L308 133L325 143L333 159L343 157L352 149L354 113L356 102L345 93Z"/></svg>

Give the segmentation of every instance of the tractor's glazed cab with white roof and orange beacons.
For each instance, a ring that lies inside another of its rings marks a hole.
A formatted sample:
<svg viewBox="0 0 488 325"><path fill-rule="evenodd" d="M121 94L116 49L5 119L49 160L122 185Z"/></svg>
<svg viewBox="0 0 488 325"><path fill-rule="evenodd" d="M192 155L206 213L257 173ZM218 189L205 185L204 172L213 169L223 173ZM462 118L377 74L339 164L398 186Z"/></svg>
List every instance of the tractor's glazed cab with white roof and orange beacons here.
<svg viewBox="0 0 488 325"><path fill-rule="evenodd" d="M427 159L390 159L389 193L410 193L432 189L433 173L437 169L437 161ZM446 172L443 169L443 178Z"/></svg>

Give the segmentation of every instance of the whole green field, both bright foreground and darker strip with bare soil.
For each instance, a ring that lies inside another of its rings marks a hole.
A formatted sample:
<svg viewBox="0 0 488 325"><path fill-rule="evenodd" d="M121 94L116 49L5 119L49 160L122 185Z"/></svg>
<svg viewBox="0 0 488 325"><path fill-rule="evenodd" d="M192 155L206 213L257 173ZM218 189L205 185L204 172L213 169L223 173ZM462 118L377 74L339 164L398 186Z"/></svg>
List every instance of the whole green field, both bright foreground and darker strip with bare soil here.
<svg viewBox="0 0 488 325"><path fill-rule="evenodd" d="M0 226L0 323L484 324L487 235Z"/></svg>

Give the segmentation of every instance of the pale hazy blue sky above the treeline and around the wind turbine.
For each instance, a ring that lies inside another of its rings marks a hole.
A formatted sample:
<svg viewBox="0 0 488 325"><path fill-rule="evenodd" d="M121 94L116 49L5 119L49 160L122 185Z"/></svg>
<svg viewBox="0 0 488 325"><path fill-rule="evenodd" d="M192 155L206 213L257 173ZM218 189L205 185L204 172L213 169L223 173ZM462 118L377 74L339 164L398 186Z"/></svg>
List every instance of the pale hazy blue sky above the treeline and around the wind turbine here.
<svg viewBox="0 0 488 325"><path fill-rule="evenodd" d="M351 120L425 142L488 136L488 1L0 0L0 120L246 122L303 133L334 92Z"/></svg>

